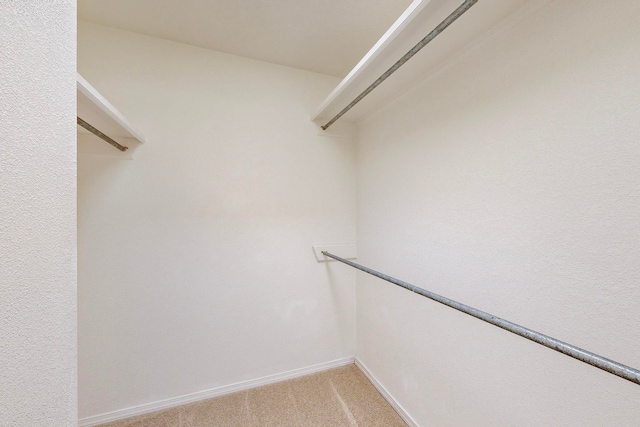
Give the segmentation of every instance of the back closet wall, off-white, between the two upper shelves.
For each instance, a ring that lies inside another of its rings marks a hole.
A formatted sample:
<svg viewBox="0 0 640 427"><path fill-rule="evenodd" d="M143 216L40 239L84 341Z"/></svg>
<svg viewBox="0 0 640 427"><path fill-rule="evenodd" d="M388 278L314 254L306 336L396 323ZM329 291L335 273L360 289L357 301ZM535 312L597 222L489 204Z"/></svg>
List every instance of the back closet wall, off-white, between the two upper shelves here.
<svg viewBox="0 0 640 427"><path fill-rule="evenodd" d="M80 418L353 356L338 79L82 22L78 68L147 137L78 160Z"/></svg>

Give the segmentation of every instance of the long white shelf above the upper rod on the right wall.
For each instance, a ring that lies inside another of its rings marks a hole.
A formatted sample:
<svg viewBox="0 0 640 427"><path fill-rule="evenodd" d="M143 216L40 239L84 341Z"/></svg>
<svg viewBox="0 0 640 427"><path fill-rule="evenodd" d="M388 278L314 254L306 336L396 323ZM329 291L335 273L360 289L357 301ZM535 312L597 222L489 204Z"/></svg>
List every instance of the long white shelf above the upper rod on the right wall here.
<svg viewBox="0 0 640 427"><path fill-rule="evenodd" d="M547 4L548 0L482 0L367 95L340 120L357 123L404 94L412 85L454 62ZM320 104L311 119L330 120L422 40L462 0L414 0L355 68Z"/></svg>

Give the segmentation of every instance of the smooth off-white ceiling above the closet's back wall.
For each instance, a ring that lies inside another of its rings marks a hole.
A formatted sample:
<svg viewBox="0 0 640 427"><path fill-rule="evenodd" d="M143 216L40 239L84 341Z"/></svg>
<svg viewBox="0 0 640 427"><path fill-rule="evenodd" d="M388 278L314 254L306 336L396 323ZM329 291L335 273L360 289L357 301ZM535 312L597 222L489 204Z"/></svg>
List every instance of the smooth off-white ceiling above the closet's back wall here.
<svg viewBox="0 0 640 427"><path fill-rule="evenodd" d="M81 20L344 77L411 0L78 0Z"/></svg>

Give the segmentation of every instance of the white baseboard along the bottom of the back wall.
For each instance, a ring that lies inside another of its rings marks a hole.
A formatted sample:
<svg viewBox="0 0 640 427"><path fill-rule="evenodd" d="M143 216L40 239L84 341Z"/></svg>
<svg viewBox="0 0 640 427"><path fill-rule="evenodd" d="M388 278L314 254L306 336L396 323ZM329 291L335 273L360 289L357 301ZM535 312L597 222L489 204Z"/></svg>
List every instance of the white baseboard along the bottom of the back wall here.
<svg viewBox="0 0 640 427"><path fill-rule="evenodd" d="M195 393L185 394L183 396L172 397L170 399L158 400L156 402L145 403L144 405L133 406L131 408L120 409L105 414L86 417L78 420L78 427L92 427L104 423L122 420L124 418L144 415L151 412L162 411L164 409L173 408L175 406L186 405L187 403L198 402L200 400L211 399L213 397L222 396L224 394L235 393L254 387L267 384L277 383L279 381L289 380L292 378L302 377L304 375L316 372L326 371L328 369L338 368L340 366L350 365L354 363L354 357L344 357L329 362L319 363L317 365L307 366L305 368L293 369L291 371L279 374L267 375L265 377L256 378L254 380L240 381L235 384L229 384L221 387L214 387L208 390L202 390ZM362 368L360 368L362 370ZM364 372L364 371L363 371ZM366 374L365 374L366 375ZM372 381L373 382L373 381ZM386 396L385 396L386 398Z"/></svg>

